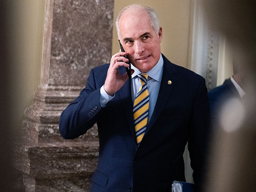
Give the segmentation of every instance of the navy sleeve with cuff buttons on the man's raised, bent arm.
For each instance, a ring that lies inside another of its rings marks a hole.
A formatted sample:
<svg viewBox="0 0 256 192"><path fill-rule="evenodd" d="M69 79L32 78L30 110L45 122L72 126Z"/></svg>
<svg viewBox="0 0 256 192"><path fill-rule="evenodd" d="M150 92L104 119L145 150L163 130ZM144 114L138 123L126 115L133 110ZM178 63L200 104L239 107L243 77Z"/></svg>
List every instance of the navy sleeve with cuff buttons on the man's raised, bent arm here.
<svg viewBox="0 0 256 192"><path fill-rule="evenodd" d="M96 85L92 69L86 87L60 115L60 134L65 139L74 139L85 134L96 123L101 110L100 86Z"/></svg>

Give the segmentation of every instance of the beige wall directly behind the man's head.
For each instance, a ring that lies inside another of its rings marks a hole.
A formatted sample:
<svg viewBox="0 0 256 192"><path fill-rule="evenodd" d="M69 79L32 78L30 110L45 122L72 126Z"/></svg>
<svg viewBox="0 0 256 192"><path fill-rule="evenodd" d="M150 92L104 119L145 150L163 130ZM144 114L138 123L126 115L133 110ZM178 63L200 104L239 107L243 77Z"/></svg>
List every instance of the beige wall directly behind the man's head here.
<svg viewBox="0 0 256 192"><path fill-rule="evenodd" d="M188 66L190 0L115 0L114 23L118 12L130 4L143 4L156 10L163 28L162 53L175 64ZM119 51L117 32L113 28L112 54Z"/></svg>

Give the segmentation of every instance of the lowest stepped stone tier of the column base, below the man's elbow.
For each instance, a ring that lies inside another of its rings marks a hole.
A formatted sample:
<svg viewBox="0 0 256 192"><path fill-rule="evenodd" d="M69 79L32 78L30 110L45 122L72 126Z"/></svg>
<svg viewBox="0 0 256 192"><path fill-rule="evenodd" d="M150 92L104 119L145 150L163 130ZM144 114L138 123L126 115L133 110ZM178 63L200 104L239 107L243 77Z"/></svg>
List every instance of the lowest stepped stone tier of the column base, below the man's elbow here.
<svg viewBox="0 0 256 192"><path fill-rule="evenodd" d="M98 161L98 142L15 142L14 165L26 192L88 192Z"/></svg>

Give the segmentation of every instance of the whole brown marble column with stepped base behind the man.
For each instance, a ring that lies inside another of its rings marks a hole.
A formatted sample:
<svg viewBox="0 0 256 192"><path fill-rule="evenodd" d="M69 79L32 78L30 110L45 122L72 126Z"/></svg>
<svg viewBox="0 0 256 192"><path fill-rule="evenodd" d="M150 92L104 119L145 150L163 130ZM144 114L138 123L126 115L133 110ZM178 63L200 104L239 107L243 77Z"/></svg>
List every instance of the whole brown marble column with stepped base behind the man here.
<svg viewBox="0 0 256 192"><path fill-rule="evenodd" d="M64 140L58 122L90 70L110 61L113 7L114 0L46 0L41 83L15 147L26 192L89 191L98 159L97 128Z"/></svg>

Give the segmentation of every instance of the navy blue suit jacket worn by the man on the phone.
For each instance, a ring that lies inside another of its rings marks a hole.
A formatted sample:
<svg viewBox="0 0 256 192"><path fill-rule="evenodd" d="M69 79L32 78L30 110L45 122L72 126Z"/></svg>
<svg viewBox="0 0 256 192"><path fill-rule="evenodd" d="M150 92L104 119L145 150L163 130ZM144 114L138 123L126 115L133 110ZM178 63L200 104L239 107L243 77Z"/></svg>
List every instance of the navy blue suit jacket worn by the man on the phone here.
<svg viewBox="0 0 256 192"><path fill-rule="evenodd" d="M209 116L205 80L163 58L156 106L138 148L130 80L106 107L100 107L100 87L109 64L90 71L86 88L62 112L59 128L66 139L85 134L97 122L100 151L92 192L167 192L172 181L185 181L182 154L187 142L198 182Z"/></svg>

